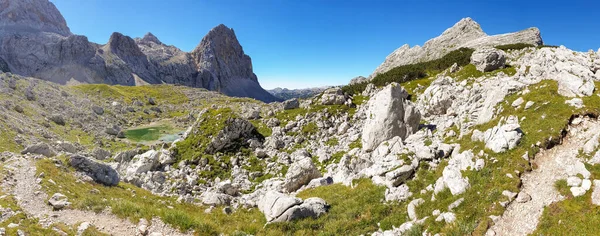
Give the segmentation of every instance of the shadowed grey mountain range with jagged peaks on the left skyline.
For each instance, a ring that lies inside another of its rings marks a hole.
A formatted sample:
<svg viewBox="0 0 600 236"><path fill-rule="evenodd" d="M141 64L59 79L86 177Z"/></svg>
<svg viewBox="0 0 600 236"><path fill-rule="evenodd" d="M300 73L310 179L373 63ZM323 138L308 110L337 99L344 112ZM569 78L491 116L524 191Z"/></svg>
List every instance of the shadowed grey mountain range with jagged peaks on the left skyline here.
<svg viewBox="0 0 600 236"><path fill-rule="evenodd" d="M233 29L213 28L191 53L148 33L141 39L115 32L99 45L72 34L48 0L0 2L0 69L60 84L178 84L264 102L266 92L252 71Z"/></svg>

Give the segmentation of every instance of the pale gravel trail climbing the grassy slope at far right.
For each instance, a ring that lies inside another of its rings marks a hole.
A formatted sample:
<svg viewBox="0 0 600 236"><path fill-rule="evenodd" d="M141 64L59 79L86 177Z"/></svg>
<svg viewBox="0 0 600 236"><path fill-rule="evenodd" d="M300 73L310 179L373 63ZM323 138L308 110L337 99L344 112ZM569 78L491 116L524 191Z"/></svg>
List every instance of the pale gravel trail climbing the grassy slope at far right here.
<svg viewBox="0 0 600 236"><path fill-rule="evenodd" d="M535 231L544 207L564 199L555 189L555 182L574 172L575 164L581 162L577 158L578 150L598 132L598 121L584 121L569 128L562 144L538 153L534 160L537 168L521 177L521 191L529 194L531 200L513 201L486 235L528 235Z"/></svg>

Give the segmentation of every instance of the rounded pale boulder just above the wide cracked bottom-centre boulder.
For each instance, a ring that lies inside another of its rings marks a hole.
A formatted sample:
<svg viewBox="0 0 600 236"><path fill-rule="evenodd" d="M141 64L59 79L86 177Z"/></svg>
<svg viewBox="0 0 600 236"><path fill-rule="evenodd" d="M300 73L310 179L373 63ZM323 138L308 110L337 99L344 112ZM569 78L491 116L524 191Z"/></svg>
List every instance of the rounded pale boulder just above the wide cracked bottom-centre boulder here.
<svg viewBox="0 0 600 236"><path fill-rule="evenodd" d="M305 157L290 165L285 175L284 188L288 192L294 192L319 177L321 172L315 167L311 158Z"/></svg>

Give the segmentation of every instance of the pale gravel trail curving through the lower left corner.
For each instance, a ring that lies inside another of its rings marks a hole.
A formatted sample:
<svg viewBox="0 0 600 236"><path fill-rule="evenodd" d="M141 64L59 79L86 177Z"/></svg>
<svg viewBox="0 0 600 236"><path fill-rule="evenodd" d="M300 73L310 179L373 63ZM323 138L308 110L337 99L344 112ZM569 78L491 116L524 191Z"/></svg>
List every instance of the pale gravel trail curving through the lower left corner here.
<svg viewBox="0 0 600 236"><path fill-rule="evenodd" d="M35 161L24 157L15 157L5 163L5 168L10 170L12 178L10 183L3 183L3 187L15 196L23 211L40 220L42 225L64 223L75 225L89 222L104 233L111 235L136 235L137 225L129 220L118 218L110 213L87 212L81 210L53 211L46 203L48 195L41 191L41 186L36 181ZM148 232L161 233L162 235L187 235L165 225L160 219L152 219Z"/></svg>

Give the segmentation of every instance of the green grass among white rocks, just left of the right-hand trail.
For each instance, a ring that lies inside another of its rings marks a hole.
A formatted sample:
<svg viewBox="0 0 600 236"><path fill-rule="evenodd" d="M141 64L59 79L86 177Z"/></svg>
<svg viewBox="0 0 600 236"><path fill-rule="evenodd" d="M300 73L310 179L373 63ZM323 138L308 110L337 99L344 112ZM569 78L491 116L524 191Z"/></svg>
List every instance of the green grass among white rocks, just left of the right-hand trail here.
<svg viewBox="0 0 600 236"><path fill-rule="evenodd" d="M443 210L450 203L460 197L464 197L464 202L457 207L454 212L457 214L457 220L454 224L443 224L435 222L434 219L428 219L425 222L426 229L430 233L441 233L446 235L481 235L484 234L488 226L492 223L489 219L490 215L502 215L504 208L498 204L500 201L505 201L502 196L503 190L518 192L520 181L518 176L515 176L515 171L524 173L531 169L529 162L524 160L522 156L528 152L530 157L533 157L539 150L535 147L537 142L541 143L542 147L546 147L552 142L556 142L562 135L563 128L568 125L569 118L573 114L579 113L596 113L598 107L588 106L584 109L575 109L566 105L565 100L569 99L560 96L557 92L558 84L556 81L544 80L536 85L531 85L531 91L525 95L512 94L505 98L505 102L499 104L503 111L497 118L492 121L475 126L475 129L485 131L498 123L500 117L508 115L517 115L519 118L525 117L525 120L520 121L521 129L525 133L521 139L521 143L517 148L504 153L493 153L486 150L482 142L472 142L470 135L466 135L462 139L451 138L447 140L449 143L458 143L461 145L461 150L472 149L474 153L484 150L488 155L498 160L496 163L486 162L486 167L481 171L467 170L463 171L463 176L469 178L471 187L464 194L452 196L449 193L440 193L436 196L436 201L426 201L423 205L417 208L421 214L431 214L435 209ZM523 97L526 101L533 101L535 104L532 108L523 110L511 107L510 104L519 97ZM586 97L585 104L600 104L597 96L593 95ZM435 179L441 176L441 170L446 161L441 163L435 173L434 172L417 172L418 180L407 183L411 189L423 189L429 184L433 184ZM506 174L512 174L515 178L508 178ZM422 177L423 176L423 177ZM418 183L418 184L417 184ZM431 198L431 194L421 195L417 193L414 198ZM553 232L568 232L568 231L553 231Z"/></svg>

